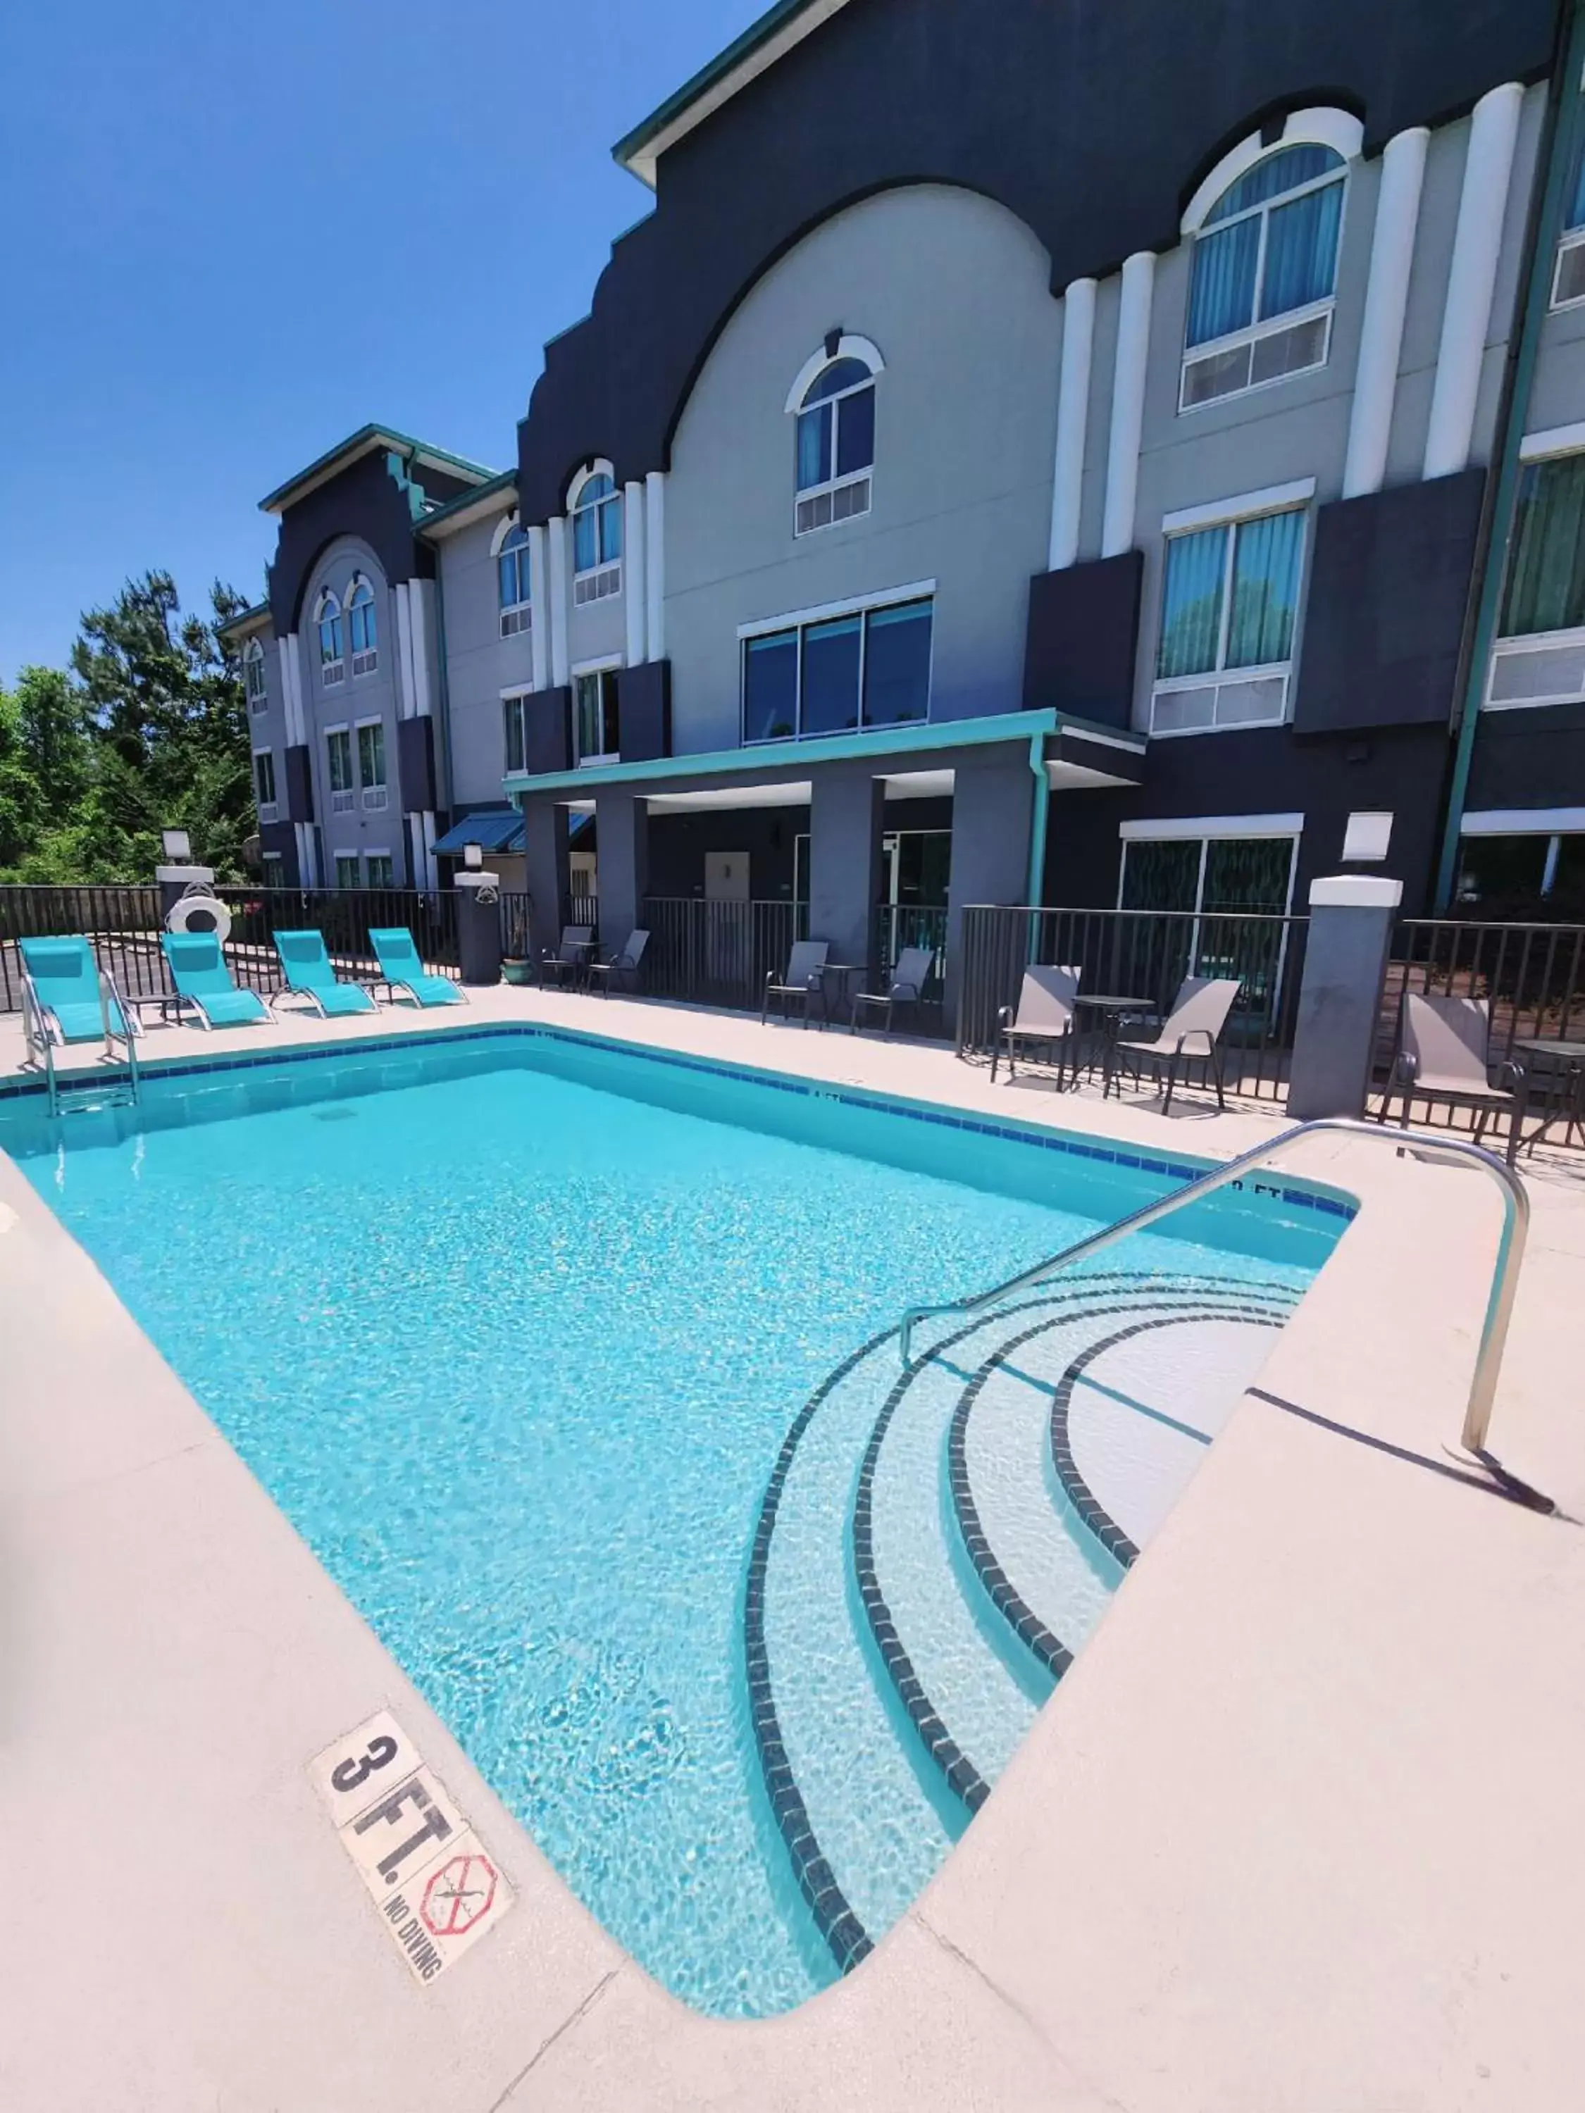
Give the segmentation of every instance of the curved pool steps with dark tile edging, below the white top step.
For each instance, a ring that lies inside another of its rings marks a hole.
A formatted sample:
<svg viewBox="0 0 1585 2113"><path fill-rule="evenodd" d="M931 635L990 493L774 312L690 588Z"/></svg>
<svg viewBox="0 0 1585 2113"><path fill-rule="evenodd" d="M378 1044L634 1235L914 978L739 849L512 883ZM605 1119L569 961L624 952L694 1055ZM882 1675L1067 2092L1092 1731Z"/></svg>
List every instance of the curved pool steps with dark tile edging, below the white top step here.
<svg viewBox="0 0 1585 2113"><path fill-rule="evenodd" d="M1236 1399L1295 1299L1095 1270L934 1329L905 1371L885 1331L809 1397L761 1507L744 1650L761 1785L841 1971L985 1802L1137 1553L1069 1441L1088 1361L1247 1329Z"/></svg>

